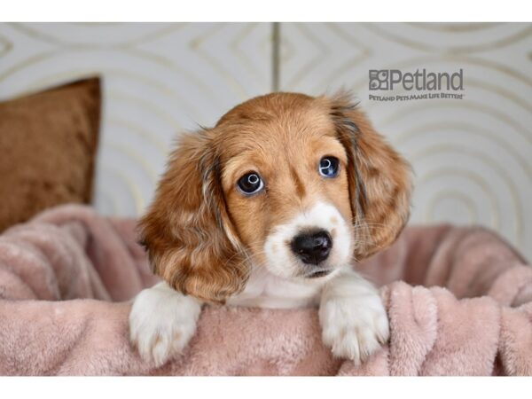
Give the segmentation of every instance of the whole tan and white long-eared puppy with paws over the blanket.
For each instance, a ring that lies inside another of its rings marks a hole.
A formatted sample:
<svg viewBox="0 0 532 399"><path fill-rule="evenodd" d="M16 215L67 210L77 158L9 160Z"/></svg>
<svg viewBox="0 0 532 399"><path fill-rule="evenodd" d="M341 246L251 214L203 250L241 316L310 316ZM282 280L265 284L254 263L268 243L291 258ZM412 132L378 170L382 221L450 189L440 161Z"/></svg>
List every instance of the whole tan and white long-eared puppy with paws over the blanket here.
<svg viewBox="0 0 532 399"><path fill-rule="evenodd" d="M164 364L203 303L319 306L323 341L356 364L388 339L377 290L353 263L410 214L411 168L346 94L273 93L179 139L139 223L164 282L139 293L130 339Z"/></svg>

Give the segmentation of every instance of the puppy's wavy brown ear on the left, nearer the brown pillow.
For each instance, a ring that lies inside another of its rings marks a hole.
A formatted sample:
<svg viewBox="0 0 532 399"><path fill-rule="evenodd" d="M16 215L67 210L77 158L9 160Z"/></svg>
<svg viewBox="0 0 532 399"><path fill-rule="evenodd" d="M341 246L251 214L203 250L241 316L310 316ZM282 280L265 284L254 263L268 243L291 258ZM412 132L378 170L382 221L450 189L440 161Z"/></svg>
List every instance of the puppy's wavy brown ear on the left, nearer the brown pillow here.
<svg viewBox="0 0 532 399"><path fill-rule="evenodd" d="M223 303L248 269L220 175L209 132L184 135L139 228L154 273L181 293Z"/></svg>

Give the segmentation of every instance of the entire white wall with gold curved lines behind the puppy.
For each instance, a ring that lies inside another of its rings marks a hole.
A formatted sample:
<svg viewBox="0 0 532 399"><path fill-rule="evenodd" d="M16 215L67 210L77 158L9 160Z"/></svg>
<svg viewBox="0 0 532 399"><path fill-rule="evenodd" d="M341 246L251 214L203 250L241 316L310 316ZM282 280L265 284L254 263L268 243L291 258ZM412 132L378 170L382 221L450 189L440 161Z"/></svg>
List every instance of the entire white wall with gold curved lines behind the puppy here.
<svg viewBox="0 0 532 399"><path fill-rule="evenodd" d="M462 69L463 98L369 99L369 70L421 68ZM346 88L414 166L413 222L480 223L532 258L532 24L0 24L0 98L90 74L105 214L142 212L177 132L271 90Z"/></svg>

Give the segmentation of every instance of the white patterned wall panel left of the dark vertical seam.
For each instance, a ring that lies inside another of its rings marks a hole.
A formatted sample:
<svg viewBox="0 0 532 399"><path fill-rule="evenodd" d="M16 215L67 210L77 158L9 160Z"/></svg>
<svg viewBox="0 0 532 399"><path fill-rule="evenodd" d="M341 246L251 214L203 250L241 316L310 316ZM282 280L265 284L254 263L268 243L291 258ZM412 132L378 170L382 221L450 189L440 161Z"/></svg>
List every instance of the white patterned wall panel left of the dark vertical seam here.
<svg viewBox="0 0 532 399"><path fill-rule="evenodd" d="M176 133L271 87L270 24L0 24L0 98L104 77L95 206L138 215Z"/></svg>

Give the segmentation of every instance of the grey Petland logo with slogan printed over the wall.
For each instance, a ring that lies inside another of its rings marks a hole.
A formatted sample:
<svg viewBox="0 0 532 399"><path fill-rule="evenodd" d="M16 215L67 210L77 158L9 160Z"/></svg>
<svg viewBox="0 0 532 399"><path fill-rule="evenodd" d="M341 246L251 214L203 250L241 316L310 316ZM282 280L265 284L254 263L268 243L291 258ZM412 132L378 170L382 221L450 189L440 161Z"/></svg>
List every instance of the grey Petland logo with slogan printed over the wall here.
<svg viewBox="0 0 532 399"><path fill-rule="evenodd" d="M371 69L370 90L416 90L417 93L395 96L375 96L370 94L370 99L375 101L406 101L411 99L429 98L464 98L464 70L452 74L447 72L426 72L426 69L416 69L416 72L403 73L399 69ZM443 90L446 90L444 92ZM428 91L428 93L419 93ZM449 92L453 91L453 92Z"/></svg>

